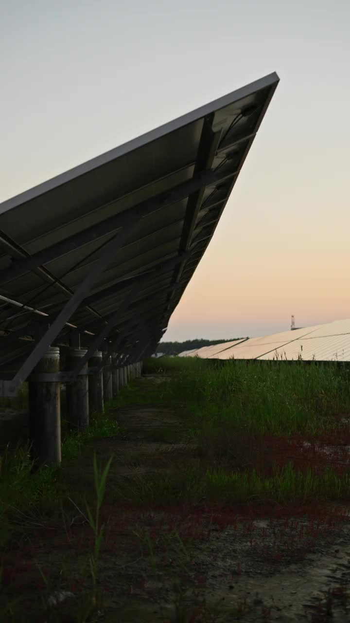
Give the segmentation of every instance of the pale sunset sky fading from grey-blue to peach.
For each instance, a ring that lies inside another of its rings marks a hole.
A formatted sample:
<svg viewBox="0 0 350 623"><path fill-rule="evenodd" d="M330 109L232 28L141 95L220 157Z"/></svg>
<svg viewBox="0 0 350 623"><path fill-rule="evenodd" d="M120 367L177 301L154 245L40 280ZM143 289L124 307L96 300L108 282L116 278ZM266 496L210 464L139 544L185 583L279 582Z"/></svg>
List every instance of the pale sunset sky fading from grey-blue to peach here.
<svg viewBox="0 0 350 623"><path fill-rule="evenodd" d="M0 0L0 202L276 71L164 340L349 318L348 0Z"/></svg>

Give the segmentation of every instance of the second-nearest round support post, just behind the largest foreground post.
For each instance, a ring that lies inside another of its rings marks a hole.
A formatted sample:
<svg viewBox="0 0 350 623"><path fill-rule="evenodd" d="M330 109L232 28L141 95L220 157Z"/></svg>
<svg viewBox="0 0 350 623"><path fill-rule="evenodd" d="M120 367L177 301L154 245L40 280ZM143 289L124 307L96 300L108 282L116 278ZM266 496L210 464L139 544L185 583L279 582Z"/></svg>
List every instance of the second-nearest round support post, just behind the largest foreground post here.
<svg viewBox="0 0 350 623"><path fill-rule="evenodd" d="M69 348L65 356L65 368L73 370L77 359L87 351L80 348ZM83 366L87 370L87 363ZM66 384L67 416L69 426L73 430L85 430L88 427L88 374L80 374L72 383Z"/></svg>

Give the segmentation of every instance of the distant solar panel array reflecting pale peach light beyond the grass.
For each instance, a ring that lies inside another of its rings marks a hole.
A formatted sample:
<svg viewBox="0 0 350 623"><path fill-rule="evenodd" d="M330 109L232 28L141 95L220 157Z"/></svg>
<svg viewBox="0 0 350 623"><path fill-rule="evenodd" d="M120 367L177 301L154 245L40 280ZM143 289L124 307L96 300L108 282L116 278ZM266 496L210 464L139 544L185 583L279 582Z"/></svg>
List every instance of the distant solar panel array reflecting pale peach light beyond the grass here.
<svg viewBox="0 0 350 623"><path fill-rule="evenodd" d="M217 349L210 354L210 348ZM262 338L204 346L179 356L204 359L286 359L303 361L350 361L350 320L282 331Z"/></svg>

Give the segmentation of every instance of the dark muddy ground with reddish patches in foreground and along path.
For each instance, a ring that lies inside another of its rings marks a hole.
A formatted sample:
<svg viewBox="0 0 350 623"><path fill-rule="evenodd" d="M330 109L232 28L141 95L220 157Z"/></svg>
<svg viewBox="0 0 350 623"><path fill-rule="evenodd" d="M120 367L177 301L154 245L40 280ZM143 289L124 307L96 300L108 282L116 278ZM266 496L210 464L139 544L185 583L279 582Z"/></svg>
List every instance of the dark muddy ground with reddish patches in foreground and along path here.
<svg viewBox="0 0 350 623"><path fill-rule="evenodd" d="M134 381L144 391L159 382L152 376ZM123 504L121 491L140 491L152 478L174 470L180 474L184 465L193 464L196 447L171 408L114 409L111 417L120 422L120 434L90 442L78 459L62 468L73 492L88 491L93 488L93 450L103 463L111 454L115 457L103 506L98 620L350 621L350 508L329 505L329 516L310 520L278 516L273 506L270 516L267 512L244 518L229 510L213 514L201 498L195 505L164 508L158 503L140 506L137 500ZM74 499L80 499L78 493ZM80 502L78 506L83 510ZM343 517L332 515L333 510ZM11 600L14 591L19 592L28 611L37 612L31 620L69 623L67 612L75 609L89 586L87 560L93 539L82 515L72 503L62 509L61 521L37 526L29 521L24 538L12 545L7 566L17 565L21 571L11 576L5 565L10 579L2 599ZM33 561L45 577L41 587L35 584ZM54 615L40 609L44 589L51 595L70 592Z"/></svg>

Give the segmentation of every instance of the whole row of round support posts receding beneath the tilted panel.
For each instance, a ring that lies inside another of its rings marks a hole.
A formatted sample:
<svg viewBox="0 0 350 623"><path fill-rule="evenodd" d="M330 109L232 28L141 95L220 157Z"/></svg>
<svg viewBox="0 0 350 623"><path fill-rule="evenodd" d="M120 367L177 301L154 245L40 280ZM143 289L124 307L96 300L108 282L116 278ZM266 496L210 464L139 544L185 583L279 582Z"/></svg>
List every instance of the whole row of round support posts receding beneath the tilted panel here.
<svg viewBox="0 0 350 623"><path fill-rule="evenodd" d="M66 348L64 371L72 371L77 365L77 359L86 352L80 348ZM60 348L50 347L28 379L29 434L32 453L39 464L61 461L60 383L57 380L48 381L46 376L48 373L60 372L60 359ZM103 412L105 402L115 398L123 386L142 374L140 361L121 365L115 355L104 368L98 369L101 361L102 351L95 351L83 367L83 374L80 373L74 381L66 384L67 420L72 430L87 429L89 414Z"/></svg>

